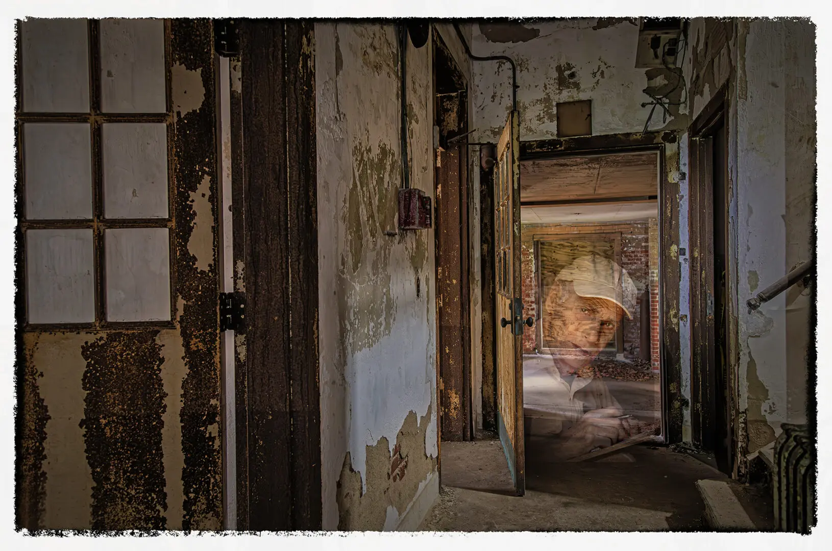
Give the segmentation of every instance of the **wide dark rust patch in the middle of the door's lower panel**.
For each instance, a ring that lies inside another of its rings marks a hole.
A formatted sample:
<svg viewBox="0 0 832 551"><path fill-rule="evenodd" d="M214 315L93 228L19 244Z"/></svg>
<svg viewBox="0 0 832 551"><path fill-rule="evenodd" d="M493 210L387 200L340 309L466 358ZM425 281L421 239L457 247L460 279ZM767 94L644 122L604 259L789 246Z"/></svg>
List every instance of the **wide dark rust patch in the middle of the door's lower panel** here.
<svg viewBox="0 0 832 551"><path fill-rule="evenodd" d="M92 529L166 529L158 331L111 332L87 342L82 387Z"/></svg>

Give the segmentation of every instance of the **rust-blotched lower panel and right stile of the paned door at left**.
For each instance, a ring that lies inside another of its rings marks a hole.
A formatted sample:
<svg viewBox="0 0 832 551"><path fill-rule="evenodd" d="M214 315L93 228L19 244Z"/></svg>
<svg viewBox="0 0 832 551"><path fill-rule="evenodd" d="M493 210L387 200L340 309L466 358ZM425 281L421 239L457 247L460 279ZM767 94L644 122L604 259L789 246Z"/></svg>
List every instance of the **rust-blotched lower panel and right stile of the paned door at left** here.
<svg viewBox="0 0 832 551"><path fill-rule="evenodd" d="M171 327L22 334L22 528L222 528L213 56L171 21Z"/></svg>

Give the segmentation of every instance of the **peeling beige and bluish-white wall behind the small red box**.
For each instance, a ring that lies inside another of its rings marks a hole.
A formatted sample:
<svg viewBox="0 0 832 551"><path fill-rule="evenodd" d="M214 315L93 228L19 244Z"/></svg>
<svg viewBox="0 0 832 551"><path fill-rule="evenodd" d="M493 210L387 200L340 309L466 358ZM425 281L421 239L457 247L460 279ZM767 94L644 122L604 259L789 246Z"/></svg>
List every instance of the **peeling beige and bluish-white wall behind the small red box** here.
<svg viewBox="0 0 832 551"><path fill-rule="evenodd" d="M407 55L410 181L433 196L431 45ZM433 230L387 234L401 186L394 26L316 23L315 89L323 528L394 529L438 487Z"/></svg>

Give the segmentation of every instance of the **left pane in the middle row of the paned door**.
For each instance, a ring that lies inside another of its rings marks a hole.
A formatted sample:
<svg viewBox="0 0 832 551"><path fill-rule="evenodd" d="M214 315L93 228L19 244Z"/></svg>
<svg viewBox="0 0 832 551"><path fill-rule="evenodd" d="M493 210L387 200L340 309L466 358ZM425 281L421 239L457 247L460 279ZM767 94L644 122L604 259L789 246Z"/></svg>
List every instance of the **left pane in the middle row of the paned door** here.
<svg viewBox="0 0 832 551"><path fill-rule="evenodd" d="M90 125L23 125L26 218L92 218Z"/></svg>

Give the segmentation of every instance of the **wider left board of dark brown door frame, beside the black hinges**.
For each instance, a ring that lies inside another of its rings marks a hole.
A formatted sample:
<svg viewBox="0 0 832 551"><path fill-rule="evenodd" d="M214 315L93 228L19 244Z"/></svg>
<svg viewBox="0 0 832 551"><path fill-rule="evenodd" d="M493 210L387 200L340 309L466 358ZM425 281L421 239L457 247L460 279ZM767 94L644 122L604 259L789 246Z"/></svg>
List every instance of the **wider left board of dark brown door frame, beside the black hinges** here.
<svg viewBox="0 0 832 551"><path fill-rule="evenodd" d="M240 22L248 327L248 524L291 529L285 27Z"/></svg>

